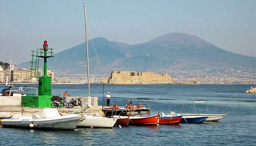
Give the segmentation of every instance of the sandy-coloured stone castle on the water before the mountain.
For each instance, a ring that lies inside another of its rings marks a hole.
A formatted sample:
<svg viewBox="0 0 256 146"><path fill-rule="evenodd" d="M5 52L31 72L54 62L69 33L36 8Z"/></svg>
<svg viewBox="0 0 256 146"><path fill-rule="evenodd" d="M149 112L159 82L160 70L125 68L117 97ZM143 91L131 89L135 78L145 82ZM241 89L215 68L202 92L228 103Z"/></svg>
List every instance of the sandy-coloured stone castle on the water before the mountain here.
<svg viewBox="0 0 256 146"><path fill-rule="evenodd" d="M103 80L108 84L170 84L174 83L168 73L156 74L154 72L112 71L108 79Z"/></svg>

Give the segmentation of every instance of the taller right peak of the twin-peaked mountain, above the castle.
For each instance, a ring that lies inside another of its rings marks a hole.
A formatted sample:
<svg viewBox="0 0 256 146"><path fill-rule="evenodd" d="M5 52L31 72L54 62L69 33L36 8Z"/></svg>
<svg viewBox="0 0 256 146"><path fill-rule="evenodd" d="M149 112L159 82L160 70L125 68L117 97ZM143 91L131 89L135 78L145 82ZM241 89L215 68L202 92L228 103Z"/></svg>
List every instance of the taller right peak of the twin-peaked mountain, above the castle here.
<svg viewBox="0 0 256 146"><path fill-rule="evenodd" d="M152 57L162 59L162 64L168 62L169 66L172 65L170 61L173 60L175 60L173 64L178 61L181 64L194 62L195 64L207 65L256 66L255 57L225 51L195 35L177 32L162 35L149 42L128 46L126 50L124 53L133 57L149 54ZM122 67L126 67L126 65Z"/></svg>

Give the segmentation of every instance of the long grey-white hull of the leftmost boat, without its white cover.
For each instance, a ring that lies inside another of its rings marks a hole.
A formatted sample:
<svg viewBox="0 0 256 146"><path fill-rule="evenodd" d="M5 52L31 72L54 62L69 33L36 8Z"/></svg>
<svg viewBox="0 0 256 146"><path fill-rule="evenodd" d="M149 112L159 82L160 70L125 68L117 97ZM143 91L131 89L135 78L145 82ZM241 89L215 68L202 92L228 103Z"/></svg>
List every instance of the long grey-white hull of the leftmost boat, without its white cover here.
<svg viewBox="0 0 256 146"><path fill-rule="evenodd" d="M73 130L80 123L77 115L66 115L44 119L4 119L1 121L4 127L19 128L44 128L44 129L66 129ZM33 127L30 127L31 124Z"/></svg>

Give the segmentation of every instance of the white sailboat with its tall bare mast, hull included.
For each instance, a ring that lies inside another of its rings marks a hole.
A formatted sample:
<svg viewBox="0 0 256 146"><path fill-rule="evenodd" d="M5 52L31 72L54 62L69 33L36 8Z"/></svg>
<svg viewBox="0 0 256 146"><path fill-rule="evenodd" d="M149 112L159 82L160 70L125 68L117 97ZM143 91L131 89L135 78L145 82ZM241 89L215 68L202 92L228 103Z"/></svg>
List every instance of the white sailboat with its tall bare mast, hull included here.
<svg viewBox="0 0 256 146"><path fill-rule="evenodd" d="M86 61L87 61L87 80L88 80L88 99L87 107L89 107L89 115L83 116L83 121L79 123L80 127L97 127L97 128L112 128L116 123L116 118L106 118L101 116L91 115L91 97L90 97L90 77L89 77L89 57L88 57L88 43L87 43L87 23L86 23L86 9L84 8L84 23L85 23L85 42L86 42Z"/></svg>

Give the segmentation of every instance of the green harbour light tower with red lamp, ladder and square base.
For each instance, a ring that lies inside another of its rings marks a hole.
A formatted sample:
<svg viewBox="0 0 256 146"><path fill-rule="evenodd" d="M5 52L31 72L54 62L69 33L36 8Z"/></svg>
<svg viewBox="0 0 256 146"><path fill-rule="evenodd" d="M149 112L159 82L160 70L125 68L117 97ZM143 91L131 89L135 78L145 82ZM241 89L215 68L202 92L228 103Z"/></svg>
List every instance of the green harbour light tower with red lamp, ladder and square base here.
<svg viewBox="0 0 256 146"><path fill-rule="evenodd" d="M43 48L32 51L31 77L38 78L38 93L36 95L22 96L22 107L50 107L52 103L52 82L51 77L47 76L47 58L53 57L52 50L48 49L48 44L45 40ZM44 58L44 75L41 77L38 77L39 58Z"/></svg>

